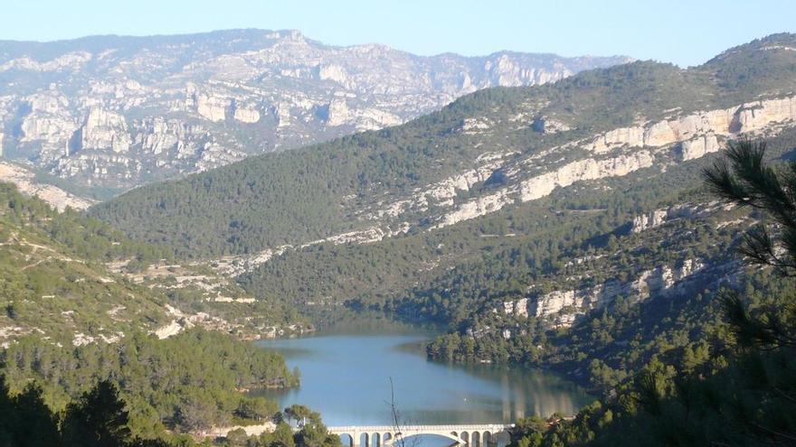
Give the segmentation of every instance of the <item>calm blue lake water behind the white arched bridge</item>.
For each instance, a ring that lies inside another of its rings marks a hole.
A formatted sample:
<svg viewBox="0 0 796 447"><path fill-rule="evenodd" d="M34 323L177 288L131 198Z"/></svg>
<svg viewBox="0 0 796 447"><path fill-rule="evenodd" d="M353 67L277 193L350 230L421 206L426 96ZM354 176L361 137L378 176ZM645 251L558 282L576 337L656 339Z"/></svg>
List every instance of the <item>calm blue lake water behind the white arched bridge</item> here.
<svg viewBox="0 0 796 447"><path fill-rule="evenodd" d="M391 424L391 377L404 424L513 423L532 414L574 414L592 401L550 373L430 361L422 344L431 337L429 331L385 322L382 328L259 341L301 371L300 387L265 394L281 408L308 405L327 425Z"/></svg>

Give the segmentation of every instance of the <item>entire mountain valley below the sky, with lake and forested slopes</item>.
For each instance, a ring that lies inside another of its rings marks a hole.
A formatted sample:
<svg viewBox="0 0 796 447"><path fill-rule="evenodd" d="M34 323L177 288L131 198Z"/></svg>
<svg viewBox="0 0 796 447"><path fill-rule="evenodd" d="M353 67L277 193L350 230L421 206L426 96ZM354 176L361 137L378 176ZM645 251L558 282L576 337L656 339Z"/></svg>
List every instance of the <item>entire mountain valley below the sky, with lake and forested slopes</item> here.
<svg viewBox="0 0 796 447"><path fill-rule="evenodd" d="M101 398L124 445L787 445L794 49L0 42L0 411L66 440Z"/></svg>

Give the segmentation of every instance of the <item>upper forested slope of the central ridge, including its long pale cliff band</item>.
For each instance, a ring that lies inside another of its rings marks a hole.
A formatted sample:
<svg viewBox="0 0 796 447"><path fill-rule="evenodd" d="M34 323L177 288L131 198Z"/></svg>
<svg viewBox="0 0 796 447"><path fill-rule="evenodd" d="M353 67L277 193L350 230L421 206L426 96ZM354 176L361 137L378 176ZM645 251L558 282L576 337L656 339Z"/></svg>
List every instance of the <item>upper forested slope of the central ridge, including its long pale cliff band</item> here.
<svg viewBox="0 0 796 447"><path fill-rule="evenodd" d="M194 257L442 228L789 126L796 56L780 43L794 40L772 36L688 70L636 62L483 90L403 126L140 188L90 214Z"/></svg>

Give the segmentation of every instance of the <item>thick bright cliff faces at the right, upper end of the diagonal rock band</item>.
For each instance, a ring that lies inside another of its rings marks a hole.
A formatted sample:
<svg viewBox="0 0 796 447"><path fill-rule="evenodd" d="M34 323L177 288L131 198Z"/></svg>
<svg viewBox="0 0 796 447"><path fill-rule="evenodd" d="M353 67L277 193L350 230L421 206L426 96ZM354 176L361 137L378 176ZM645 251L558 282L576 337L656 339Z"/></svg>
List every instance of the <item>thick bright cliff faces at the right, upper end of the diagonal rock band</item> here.
<svg viewBox="0 0 796 447"><path fill-rule="evenodd" d="M537 200L575 182L621 177L656 164L679 163L701 158L722 148L720 137L775 130L796 125L796 97L771 99L728 109L697 112L649 126L621 127L582 141L554 147L511 164L490 164L508 185L482 197L465 201L439 217L433 228L453 225L501 210L514 200ZM754 117L749 117L754 110ZM740 125L739 123L747 123ZM595 156L555 166L567 151L585 150ZM552 161L552 163L551 163ZM541 173L539 173L541 171ZM429 191L433 191L431 188ZM452 200L437 205L452 204ZM428 206L421 200L401 203L398 210ZM393 208L394 210L394 208ZM394 215L399 215L395 213Z"/></svg>

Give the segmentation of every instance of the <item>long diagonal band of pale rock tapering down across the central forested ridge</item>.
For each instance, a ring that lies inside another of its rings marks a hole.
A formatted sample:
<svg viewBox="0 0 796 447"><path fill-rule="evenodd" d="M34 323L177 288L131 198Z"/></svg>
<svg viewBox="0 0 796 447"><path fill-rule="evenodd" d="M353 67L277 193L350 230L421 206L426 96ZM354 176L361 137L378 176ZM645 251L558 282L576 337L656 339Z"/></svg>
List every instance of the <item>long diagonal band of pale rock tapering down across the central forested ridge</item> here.
<svg viewBox="0 0 796 447"><path fill-rule="evenodd" d="M370 244L385 237L406 234L412 229L445 228L497 212L516 202L538 200L576 182L621 177L647 168L665 171L668 165L685 163L720 151L727 138L739 135L772 136L794 125L796 97L788 97L675 116L645 126L617 128L554 146L526 158L516 157L516 153L486 153L475 160L476 168L418 189L409 199L394 201L386 207L380 202L379 206L383 208L361 211L361 221L376 223L371 227L297 246L284 245L253 255L226 257L214 261L213 265L218 265L223 274L242 275L288 249L327 242ZM488 132L488 127L481 127L480 132ZM572 158L571 154L575 151L587 156L571 163L561 163ZM490 191L463 202L455 200L459 194L498 175L502 185L498 191ZM430 208L436 214L423 214ZM685 213L686 210L655 210L649 216L640 216L633 222L633 231L659 226L666 219L677 216L678 212ZM422 218L417 221L402 220L404 214L421 215Z"/></svg>

